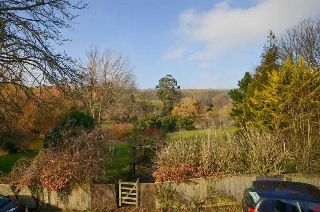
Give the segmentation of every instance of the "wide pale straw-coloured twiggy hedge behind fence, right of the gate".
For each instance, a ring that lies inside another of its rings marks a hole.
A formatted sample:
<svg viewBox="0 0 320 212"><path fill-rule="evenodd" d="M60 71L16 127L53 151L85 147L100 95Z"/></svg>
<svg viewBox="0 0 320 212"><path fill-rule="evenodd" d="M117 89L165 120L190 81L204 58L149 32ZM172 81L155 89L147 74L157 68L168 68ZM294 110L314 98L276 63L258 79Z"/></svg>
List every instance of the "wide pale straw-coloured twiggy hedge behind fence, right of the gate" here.
<svg viewBox="0 0 320 212"><path fill-rule="evenodd" d="M227 136L208 130L206 135L163 144L154 159L153 177L184 182L224 174L279 175L289 171L290 161L291 154L280 136L256 128Z"/></svg>

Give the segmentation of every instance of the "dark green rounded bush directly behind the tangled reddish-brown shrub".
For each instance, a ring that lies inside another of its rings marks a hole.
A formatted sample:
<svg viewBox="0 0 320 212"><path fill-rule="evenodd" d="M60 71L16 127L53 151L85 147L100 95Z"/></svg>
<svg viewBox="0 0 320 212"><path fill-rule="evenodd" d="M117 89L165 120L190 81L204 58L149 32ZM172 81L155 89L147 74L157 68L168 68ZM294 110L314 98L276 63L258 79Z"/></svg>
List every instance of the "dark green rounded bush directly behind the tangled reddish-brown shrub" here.
<svg viewBox="0 0 320 212"><path fill-rule="evenodd" d="M77 133L76 129L79 128L90 132L95 124L95 120L90 114L80 110L71 110L64 116L60 116L55 125L45 134L44 148L58 146L63 140L64 133L68 133L68 137L74 137Z"/></svg>

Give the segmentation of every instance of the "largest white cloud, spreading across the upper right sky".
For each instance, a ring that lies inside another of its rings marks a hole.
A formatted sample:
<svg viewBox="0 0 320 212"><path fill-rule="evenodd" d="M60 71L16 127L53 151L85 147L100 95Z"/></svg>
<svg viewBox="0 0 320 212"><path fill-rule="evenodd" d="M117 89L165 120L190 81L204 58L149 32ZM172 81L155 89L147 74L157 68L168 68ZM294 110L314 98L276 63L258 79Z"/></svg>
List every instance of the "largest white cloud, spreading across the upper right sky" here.
<svg viewBox="0 0 320 212"><path fill-rule="evenodd" d="M212 9L197 12L188 9L179 16L175 29L186 44L203 45L190 60L203 60L219 53L265 40L271 29L278 35L306 16L319 16L320 1L260 1L248 9L230 8L228 2L215 4ZM175 50L166 56L182 55Z"/></svg>

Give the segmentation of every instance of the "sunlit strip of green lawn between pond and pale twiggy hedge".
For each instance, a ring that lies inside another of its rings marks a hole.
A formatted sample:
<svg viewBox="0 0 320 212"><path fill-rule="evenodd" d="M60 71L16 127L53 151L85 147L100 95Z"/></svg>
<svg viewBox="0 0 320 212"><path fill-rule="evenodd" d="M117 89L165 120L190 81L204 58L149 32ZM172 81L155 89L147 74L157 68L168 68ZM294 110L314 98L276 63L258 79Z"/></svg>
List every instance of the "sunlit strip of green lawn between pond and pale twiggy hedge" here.
<svg viewBox="0 0 320 212"><path fill-rule="evenodd" d="M209 130L211 133L216 131L220 135L225 135L225 133L235 133L238 130L236 126L228 126L223 129L211 129ZM195 138L196 136L205 136L207 133L206 129L200 129L200 130L186 130L186 131L178 131L167 134L167 138L182 138L182 139L190 139Z"/></svg>

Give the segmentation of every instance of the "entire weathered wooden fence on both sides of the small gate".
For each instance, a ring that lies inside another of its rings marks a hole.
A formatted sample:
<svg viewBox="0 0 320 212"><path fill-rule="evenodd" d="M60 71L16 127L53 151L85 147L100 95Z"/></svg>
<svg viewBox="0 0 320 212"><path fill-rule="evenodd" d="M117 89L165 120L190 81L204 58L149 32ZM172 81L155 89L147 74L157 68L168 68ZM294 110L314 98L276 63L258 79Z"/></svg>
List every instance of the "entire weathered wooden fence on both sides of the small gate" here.
<svg viewBox="0 0 320 212"><path fill-rule="evenodd" d="M223 178L198 178L192 179L192 183L173 183L174 188L180 191L184 200L191 197L205 199L210 192L223 191L232 196L231 199L213 198L205 201L206 206L220 205L240 205L244 189L254 180L283 180L292 182L309 183L320 187L320 175L283 175L276 177L266 177L258 175L238 175L226 176ZM168 185L169 182L163 182ZM141 208L159 208L159 201L154 195L155 184L158 183L138 183L136 190L138 194L138 205ZM11 199L20 201L28 208L35 208L36 202L32 198L28 188L22 188L18 198L13 194L10 185L0 184L0 193ZM44 189L43 198L39 202L41 208L117 208L119 199L118 184L99 184L77 186L69 196L69 202L64 205L59 200L55 191L49 192ZM48 195L49 194L49 195ZM122 194L121 194L122 195Z"/></svg>

